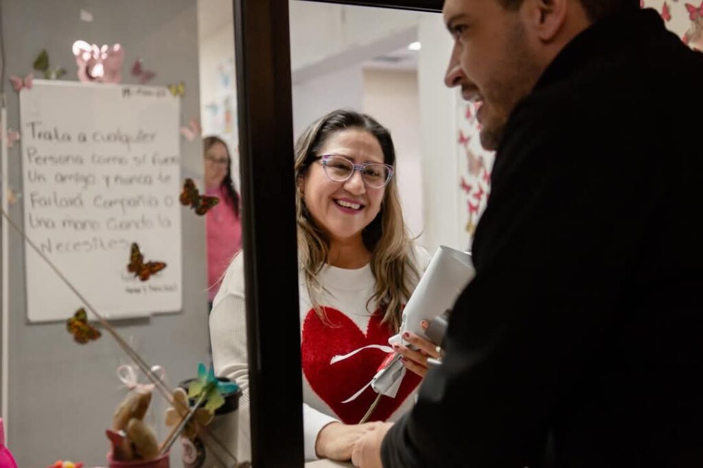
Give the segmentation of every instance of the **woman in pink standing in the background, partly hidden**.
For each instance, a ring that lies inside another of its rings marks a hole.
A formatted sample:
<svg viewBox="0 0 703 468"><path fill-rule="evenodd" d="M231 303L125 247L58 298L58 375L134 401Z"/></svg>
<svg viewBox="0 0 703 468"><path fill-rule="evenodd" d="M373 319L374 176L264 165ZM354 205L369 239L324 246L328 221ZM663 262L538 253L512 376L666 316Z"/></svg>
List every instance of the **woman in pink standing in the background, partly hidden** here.
<svg viewBox="0 0 703 468"><path fill-rule="evenodd" d="M207 302L212 301L220 281L242 248L242 223L239 216L239 194L234 188L231 157L226 143L217 136L202 139L205 157L205 193L218 197L219 203L205 215L207 230Z"/></svg>

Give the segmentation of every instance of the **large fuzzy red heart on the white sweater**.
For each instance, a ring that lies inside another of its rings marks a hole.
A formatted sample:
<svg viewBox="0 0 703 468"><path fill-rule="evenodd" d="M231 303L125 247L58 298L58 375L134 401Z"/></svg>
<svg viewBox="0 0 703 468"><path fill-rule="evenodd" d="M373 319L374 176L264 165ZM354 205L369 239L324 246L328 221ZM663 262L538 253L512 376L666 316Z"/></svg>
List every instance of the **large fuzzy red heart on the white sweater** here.
<svg viewBox="0 0 703 468"><path fill-rule="evenodd" d="M330 364L334 356L351 353L369 344L388 346L392 329L381 323L382 311L371 316L366 334L344 313L335 308L323 307L328 323L323 323L311 308L303 322L302 368L313 391L329 405L335 415L346 424L357 424L376 398L369 386L356 400L342 403L368 384L386 358L380 349L365 349L345 360ZM385 421L399 408L416 386L420 376L406 372L395 398L384 396L369 421Z"/></svg>

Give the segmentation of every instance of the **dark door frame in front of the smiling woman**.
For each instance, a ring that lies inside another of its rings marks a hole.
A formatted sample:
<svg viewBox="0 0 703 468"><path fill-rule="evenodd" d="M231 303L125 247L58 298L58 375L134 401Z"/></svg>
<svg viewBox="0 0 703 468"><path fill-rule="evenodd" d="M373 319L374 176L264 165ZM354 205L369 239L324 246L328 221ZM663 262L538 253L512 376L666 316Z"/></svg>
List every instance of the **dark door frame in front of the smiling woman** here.
<svg viewBox="0 0 703 468"><path fill-rule="evenodd" d="M443 3L304 1L433 12ZM252 464L302 467L288 0L233 0L233 12Z"/></svg>

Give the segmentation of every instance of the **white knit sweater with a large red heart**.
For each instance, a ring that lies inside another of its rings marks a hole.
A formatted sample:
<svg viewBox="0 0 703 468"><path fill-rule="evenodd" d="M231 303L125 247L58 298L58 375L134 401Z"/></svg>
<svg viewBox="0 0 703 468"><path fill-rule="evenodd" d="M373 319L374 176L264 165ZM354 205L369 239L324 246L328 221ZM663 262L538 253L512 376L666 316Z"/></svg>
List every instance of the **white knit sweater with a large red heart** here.
<svg viewBox="0 0 703 468"><path fill-rule="evenodd" d="M420 274L430 256L415 248L415 262ZM367 384L387 356L379 349L365 349L340 362L330 364L333 356L345 355L368 344L388 346L392 330L380 323L382 313L367 302L375 292L375 279L370 265L357 270L325 266L317 276L324 290L318 301L323 306L326 322L314 308L299 275L301 353L303 370L303 426L305 457L316 459L315 442L319 431L330 422L356 424L373 402L376 394L366 389L356 400L342 403ZM415 284L412 285L415 287ZM215 372L233 379L243 391L238 411L238 448L240 461L251 459L249 420L249 376L243 256L238 255L229 266L210 314L210 339ZM420 379L406 373L396 398L382 397L370 420L394 421L408 411L414 402ZM412 398L411 398L412 397Z"/></svg>

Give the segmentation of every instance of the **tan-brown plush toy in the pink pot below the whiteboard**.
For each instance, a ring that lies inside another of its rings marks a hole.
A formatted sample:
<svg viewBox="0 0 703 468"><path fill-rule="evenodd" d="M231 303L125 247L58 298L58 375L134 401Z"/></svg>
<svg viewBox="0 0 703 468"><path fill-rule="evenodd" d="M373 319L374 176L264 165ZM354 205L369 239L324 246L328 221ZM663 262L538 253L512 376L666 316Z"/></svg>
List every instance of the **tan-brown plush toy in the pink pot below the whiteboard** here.
<svg viewBox="0 0 703 468"><path fill-rule="evenodd" d="M131 391L112 417L106 434L112 444L112 459L120 461L153 460L159 452L154 430L143 422L151 402L151 391Z"/></svg>

